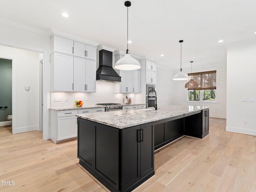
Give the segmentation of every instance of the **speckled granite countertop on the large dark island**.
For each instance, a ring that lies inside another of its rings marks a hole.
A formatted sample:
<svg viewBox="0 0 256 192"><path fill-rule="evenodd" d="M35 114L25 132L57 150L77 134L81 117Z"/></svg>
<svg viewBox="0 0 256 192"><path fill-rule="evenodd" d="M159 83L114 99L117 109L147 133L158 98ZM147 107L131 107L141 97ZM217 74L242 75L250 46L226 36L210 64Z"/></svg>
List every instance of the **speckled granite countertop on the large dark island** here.
<svg viewBox="0 0 256 192"><path fill-rule="evenodd" d="M78 114L79 118L98 122L100 124L123 129L157 120L196 112L209 107L204 106L160 106L158 110L118 110L90 114Z"/></svg>

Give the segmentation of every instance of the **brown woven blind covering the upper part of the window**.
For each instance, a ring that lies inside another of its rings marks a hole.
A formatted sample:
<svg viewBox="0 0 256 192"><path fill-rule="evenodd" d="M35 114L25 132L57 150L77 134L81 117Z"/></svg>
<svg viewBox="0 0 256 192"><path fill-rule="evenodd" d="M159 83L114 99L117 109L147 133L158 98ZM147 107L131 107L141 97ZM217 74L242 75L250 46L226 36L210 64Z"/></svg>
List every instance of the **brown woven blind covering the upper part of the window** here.
<svg viewBox="0 0 256 192"><path fill-rule="evenodd" d="M213 90L216 89L216 71L206 71L198 73L189 73L190 79L193 79L197 84L196 90ZM189 89L188 90L194 90Z"/></svg>

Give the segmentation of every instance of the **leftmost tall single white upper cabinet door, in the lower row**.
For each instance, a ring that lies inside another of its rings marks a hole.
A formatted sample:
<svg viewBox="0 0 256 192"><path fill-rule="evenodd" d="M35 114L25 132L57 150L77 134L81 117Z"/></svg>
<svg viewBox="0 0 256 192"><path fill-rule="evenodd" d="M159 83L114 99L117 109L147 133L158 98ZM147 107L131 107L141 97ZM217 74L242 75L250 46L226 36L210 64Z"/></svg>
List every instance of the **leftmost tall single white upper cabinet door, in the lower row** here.
<svg viewBox="0 0 256 192"><path fill-rule="evenodd" d="M73 56L54 53L54 91L73 91Z"/></svg>

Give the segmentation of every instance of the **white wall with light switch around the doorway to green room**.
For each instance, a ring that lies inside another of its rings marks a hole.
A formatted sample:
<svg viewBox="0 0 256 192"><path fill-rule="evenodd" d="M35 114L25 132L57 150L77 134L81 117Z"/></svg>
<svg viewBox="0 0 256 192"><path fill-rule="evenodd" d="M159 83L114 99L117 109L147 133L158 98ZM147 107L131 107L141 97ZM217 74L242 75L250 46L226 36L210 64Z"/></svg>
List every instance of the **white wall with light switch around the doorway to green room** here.
<svg viewBox="0 0 256 192"><path fill-rule="evenodd" d="M25 132L38 130L39 123L39 61L38 52L21 50L17 48L1 46L0 53L14 58L13 71L16 80L16 130ZM3 83L3 82L2 82ZM25 90L30 86L30 90ZM15 109L15 108L14 108Z"/></svg>

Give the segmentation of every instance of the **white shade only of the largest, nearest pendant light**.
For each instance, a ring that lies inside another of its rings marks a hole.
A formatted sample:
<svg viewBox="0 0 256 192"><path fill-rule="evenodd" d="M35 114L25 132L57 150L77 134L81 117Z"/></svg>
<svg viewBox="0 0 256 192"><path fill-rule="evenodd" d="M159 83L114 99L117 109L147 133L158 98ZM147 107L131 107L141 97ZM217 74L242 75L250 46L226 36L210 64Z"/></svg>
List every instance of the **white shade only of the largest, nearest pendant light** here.
<svg viewBox="0 0 256 192"><path fill-rule="evenodd" d="M140 63L126 53L123 58L116 62L115 68L119 70L136 70L140 68Z"/></svg>

